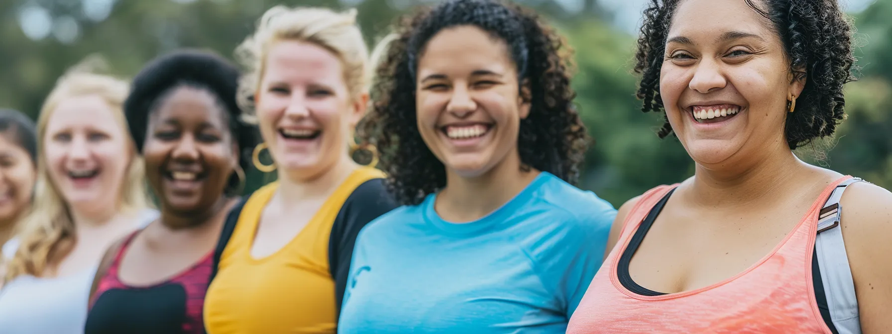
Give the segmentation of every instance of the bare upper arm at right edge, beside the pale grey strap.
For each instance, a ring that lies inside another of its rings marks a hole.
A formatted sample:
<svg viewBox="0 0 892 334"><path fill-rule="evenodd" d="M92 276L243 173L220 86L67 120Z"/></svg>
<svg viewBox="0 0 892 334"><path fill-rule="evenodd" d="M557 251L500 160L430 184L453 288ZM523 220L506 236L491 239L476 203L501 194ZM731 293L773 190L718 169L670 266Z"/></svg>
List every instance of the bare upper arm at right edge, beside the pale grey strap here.
<svg viewBox="0 0 892 334"><path fill-rule="evenodd" d="M840 200L842 232L861 330L892 333L892 192L869 183L849 188Z"/></svg>

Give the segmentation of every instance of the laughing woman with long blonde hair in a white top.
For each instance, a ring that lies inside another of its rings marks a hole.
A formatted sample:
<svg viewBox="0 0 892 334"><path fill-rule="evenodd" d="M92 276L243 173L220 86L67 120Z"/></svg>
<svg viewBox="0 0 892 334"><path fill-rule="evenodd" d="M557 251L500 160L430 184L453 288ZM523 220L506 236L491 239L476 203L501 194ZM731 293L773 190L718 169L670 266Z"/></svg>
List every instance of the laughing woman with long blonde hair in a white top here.
<svg viewBox="0 0 892 334"><path fill-rule="evenodd" d="M0 290L4 334L81 333L103 251L157 213L121 111L128 84L73 69L37 118L35 201Z"/></svg>

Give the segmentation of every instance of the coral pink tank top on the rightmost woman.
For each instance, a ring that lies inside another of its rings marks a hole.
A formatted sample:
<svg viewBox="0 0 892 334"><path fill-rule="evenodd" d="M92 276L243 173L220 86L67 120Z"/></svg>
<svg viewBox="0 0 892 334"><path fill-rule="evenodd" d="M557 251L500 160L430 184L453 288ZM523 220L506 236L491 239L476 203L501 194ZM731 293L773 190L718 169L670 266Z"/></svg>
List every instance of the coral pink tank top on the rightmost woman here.
<svg viewBox="0 0 892 334"><path fill-rule="evenodd" d="M648 191L626 216L619 240L582 297L567 334L830 333L814 301L812 256L822 204L848 178L828 185L786 238L742 273L659 296L632 292L617 274L632 236L675 185Z"/></svg>

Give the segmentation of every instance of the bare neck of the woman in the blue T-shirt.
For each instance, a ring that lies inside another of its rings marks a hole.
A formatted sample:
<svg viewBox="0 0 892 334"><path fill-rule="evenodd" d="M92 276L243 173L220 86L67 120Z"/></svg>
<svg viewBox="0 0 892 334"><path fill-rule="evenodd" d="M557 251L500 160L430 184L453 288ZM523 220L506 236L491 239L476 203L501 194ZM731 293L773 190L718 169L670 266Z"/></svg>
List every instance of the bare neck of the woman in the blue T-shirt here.
<svg viewBox="0 0 892 334"><path fill-rule="evenodd" d="M535 169L523 171L520 166L520 156L514 152L483 175L465 177L447 169L446 187L434 203L437 214L454 223L473 222L491 214L540 174Z"/></svg>

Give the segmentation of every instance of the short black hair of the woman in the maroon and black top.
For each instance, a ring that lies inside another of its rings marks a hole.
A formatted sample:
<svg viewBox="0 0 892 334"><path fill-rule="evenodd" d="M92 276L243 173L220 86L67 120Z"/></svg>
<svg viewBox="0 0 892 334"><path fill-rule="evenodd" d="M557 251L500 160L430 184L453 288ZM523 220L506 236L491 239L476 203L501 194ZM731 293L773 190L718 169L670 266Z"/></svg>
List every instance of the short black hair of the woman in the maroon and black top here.
<svg viewBox="0 0 892 334"><path fill-rule="evenodd" d="M211 52L180 50L150 62L134 77L130 94L124 102L124 114L136 150L143 151L149 116L159 103L177 88L190 86L207 90L224 107L229 131L238 145L238 164L243 170L248 170L252 164L251 150L257 143L257 134L253 126L244 123L242 111L235 102L238 78L239 71L234 65ZM230 176L227 192L235 191L242 181L235 174Z"/></svg>

